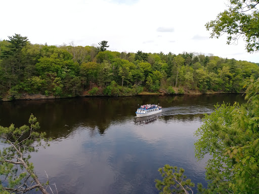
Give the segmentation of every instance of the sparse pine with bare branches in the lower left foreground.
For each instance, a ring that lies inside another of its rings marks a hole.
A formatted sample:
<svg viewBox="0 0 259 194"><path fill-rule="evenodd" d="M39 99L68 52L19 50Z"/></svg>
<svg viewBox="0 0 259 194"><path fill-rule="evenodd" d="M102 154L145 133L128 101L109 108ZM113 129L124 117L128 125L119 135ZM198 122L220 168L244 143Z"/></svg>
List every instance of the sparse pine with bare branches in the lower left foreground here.
<svg viewBox="0 0 259 194"><path fill-rule="evenodd" d="M36 132L39 123L33 115L29 118L30 126L15 128L0 126L0 136L5 146L0 151L0 191L1 193L25 193L39 189L47 194L49 181L42 184L34 172L33 164L29 162L30 153L37 148L49 146L46 133ZM10 145L10 147L7 147Z"/></svg>

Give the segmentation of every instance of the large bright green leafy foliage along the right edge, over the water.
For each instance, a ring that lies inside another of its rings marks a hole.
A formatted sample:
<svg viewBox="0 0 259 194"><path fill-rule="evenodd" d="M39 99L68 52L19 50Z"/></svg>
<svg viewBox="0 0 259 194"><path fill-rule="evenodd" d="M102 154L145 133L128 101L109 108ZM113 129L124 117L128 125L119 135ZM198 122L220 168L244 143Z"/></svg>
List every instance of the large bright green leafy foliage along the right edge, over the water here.
<svg viewBox="0 0 259 194"><path fill-rule="evenodd" d="M247 104L217 105L195 132L198 159L207 162L206 193L258 193L259 79L246 90ZM200 188L201 189L201 188Z"/></svg>

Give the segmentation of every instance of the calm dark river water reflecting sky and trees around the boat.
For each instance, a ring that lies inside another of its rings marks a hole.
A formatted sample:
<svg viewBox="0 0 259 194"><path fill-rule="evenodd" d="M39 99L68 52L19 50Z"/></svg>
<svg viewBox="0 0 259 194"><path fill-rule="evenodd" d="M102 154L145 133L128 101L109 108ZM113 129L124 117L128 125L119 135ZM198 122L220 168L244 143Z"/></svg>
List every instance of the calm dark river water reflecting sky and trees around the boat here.
<svg viewBox="0 0 259 194"><path fill-rule="evenodd" d="M197 162L193 136L204 113L217 103L243 103L241 94L74 98L0 103L0 125L28 124L31 113L51 146L33 153L42 181L62 193L158 193L154 180L164 164L185 169L197 184L205 162ZM159 115L137 119L138 105L160 104ZM68 125L68 126L65 126ZM195 189L196 191L196 189Z"/></svg>

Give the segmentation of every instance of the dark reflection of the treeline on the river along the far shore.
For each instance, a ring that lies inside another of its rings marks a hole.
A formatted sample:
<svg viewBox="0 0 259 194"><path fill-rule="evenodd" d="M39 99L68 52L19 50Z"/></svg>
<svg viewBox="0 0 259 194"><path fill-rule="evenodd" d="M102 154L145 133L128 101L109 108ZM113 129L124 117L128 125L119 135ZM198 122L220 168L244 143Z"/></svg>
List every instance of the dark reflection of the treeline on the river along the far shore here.
<svg viewBox="0 0 259 194"><path fill-rule="evenodd" d="M73 98L47 101L16 101L0 103L0 125L15 126L27 124L31 113L37 117L40 130L46 131L49 137L66 137L80 125L89 130L98 130L104 134L111 123L123 123L129 117L134 118L135 112L143 104L160 104L164 107L186 105L216 104L217 102L243 102L242 95L142 95L119 98ZM163 116L159 119L181 121L201 118L202 115ZM65 126L68 125L68 126ZM94 133L92 133L94 134Z"/></svg>

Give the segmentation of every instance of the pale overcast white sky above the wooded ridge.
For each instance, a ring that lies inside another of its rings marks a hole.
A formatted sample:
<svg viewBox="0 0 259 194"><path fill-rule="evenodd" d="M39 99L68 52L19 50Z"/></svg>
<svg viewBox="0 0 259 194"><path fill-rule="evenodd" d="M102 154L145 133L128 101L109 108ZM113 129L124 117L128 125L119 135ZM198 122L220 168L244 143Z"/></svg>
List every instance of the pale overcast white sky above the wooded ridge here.
<svg viewBox="0 0 259 194"><path fill-rule="evenodd" d="M259 63L245 42L209 38L205 24L227 9L227 0L2 0L0 40L15 33L31 43L98 45L108 50L176 55L183 52Z"/></svg>

